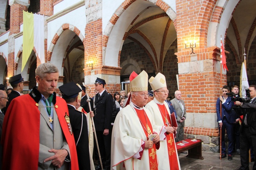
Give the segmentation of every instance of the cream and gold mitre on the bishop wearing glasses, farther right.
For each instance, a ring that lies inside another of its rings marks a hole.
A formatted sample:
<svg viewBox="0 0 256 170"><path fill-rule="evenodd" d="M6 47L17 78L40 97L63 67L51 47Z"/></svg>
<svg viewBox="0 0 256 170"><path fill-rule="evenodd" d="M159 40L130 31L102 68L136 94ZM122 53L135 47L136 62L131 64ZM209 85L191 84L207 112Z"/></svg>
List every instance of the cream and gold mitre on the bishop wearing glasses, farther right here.
<svg viewBox="0 0 256 170"><path fill-rule="evenodd" d="M151 77L148 82L150 83L153 91L156 91L157 89L162 87L167 87L165 76L161 73L156 74L156 77Z"/></svg>

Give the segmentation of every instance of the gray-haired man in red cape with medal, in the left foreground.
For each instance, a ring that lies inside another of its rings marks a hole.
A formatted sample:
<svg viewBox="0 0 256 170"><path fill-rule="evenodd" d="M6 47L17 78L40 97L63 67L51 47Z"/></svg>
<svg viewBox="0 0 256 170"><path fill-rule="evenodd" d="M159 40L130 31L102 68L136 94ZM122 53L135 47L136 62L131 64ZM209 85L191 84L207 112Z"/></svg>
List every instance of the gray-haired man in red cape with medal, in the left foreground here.
<svg viewBox="0 0 256 170"><path fill-rule="evenodd" d="M41 64L35 78L38 87L15 98L5 114L2 169L79 169L67 103L54 92L58 69Z"/></svg>

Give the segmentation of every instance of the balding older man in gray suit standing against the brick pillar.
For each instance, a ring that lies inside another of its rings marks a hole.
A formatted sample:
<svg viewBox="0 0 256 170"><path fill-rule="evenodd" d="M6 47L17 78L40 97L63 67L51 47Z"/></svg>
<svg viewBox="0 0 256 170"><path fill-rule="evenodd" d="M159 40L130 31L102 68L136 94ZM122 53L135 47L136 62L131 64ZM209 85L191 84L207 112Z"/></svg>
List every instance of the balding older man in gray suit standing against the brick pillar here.
<svg viewBox="0 0 256 170"><path fill-rule="evenodd" d="M183 100L181 100L181 91L176 90L174 93L175 98L171 100L172 106L174 107L177 114L177 134L175 142L181 141L184 139L184 125L186 119L186 107Z"/></svg>

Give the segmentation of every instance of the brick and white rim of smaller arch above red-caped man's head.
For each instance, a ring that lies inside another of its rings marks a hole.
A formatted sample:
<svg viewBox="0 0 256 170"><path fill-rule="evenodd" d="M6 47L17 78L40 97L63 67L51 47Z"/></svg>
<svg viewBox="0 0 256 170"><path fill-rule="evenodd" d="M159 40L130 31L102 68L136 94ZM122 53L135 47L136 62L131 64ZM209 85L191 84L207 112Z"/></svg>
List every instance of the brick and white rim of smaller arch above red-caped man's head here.
<svg viewBox="0 0 256 170"><path fill-rule="evenodd" d="M61 33L65 30L70 30L70 31L73 31L77 36L79 36L79 38L81 39L82 42L84 42L84 36L82 35L81 31L69 24L69 23L65 23L61 26L61 28L59 28L59 30L57 31L57 33L54 35L53 39L52 39L52 42L51 42L51 45L49 46L49 50L47 52L47 61L48 62L51 62L51 58L52 58L52 54L53 54L53 50L54 50L54 47L61 35Z"/></svg>

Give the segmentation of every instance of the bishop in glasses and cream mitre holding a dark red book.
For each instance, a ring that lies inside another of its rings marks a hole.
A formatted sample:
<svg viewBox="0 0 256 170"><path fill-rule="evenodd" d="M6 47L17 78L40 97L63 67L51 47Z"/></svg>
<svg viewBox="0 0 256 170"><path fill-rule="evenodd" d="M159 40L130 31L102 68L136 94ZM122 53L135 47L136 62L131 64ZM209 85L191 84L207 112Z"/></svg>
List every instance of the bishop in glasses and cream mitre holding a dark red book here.
<svg viewBox="0 0 256 170"><path fill-rule="evenodd" d="M171 117L170 109L165 100L168 97L165 76L158 73L148 81L154 91L154 99L145 106L154 117L160 133L160 148L156 151L158 157L158 169L179 170L180 162L175 145L174 135L177 129L175 115ZM165 133L166 132L166 133Z"/></svg>

